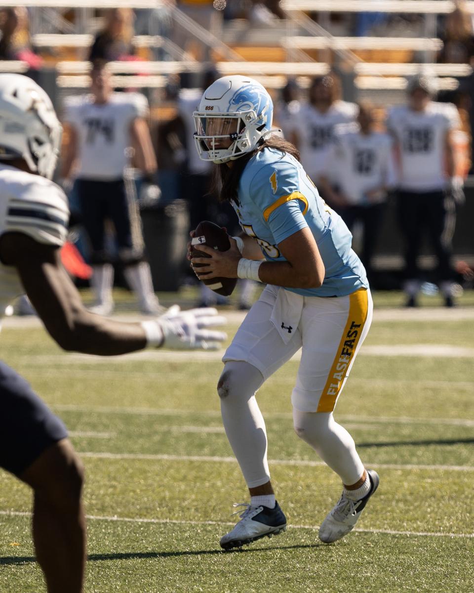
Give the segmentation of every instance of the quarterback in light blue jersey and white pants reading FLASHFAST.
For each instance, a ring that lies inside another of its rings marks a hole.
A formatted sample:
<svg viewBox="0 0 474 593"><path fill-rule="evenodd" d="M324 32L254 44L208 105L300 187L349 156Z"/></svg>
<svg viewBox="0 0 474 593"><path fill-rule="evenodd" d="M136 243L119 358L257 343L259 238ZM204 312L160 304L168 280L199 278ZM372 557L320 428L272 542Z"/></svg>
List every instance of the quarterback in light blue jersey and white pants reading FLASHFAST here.
<svg viewBox="0 0 474 593"><path fill-rule="evenodd" d="M225 549L286 528L270 482L255 392L299 349L294 429L344 484L319 538L330 543L351 531L379 484L333 416L371 323L366 272L351 250L350 232L319 197L296 148L271 135L272 114L265 88L244 76L218 79L194 113L198 153L217 165L220 198L232 202L245 234L231 238L228 251L200 245L209 259L191 263L206 264L196 272L210 272L208 279L267 284L226 350L217 385L225 430L251 497L241 521L220 540Z"/></svg>

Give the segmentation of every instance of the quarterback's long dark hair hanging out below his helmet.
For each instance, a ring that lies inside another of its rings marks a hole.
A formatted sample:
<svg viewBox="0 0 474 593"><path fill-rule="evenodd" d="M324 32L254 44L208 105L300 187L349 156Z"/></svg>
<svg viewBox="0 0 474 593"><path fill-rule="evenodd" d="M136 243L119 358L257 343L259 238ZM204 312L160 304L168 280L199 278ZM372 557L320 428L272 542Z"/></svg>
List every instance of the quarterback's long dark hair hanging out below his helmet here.
<svg viewBox="0 0 474 593"><path fill-rule="evenodd" d="M210 193L213 196L217 196L219 202L233 200L236 204L239 204L239 181L241 180L245 165L257 154L257 152L262 151L264 148L273 148L274 150L281 151L283 154L288 153L296 158L297 161L301 162L300 153L296 146L278 136L269 136L268 138L265 138L254 151L249 152L244 155L244 157L232 161L232 167L228 167L225 162L216 165L212 174Z"/></svg>

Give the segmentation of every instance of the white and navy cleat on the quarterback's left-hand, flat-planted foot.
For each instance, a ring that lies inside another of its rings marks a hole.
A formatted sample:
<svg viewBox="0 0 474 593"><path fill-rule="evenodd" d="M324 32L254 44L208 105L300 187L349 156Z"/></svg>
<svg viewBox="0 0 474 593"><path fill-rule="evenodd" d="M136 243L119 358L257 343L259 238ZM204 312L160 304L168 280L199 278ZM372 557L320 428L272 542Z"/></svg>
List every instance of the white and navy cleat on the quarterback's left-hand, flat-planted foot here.
<svg viewBox="0 0 474 593"><path fill-rule="evenodd" d="M271 537L286 531L286 517L277 502L273 509L268 506L252 506L246 503L233 506L245 506L246 509L239 515L241 520L233 530L220 538L220 547L224 550L239 548L244 544L260 540L265 535Z"/></svg>

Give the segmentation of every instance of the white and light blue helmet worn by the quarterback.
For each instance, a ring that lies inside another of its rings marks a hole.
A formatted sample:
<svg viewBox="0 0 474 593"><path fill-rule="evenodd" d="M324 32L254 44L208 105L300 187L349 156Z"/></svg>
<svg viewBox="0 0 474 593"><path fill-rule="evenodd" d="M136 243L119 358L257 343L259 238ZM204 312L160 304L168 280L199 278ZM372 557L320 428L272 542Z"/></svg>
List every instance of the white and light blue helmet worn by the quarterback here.
<svg viewBox="0 0 474 593"><path fill-rule="evenodd" d="M235 160L255 149L273 131L273 101L248 76L223 76L204 91L194 111L194 141L199 158L215 163Z"/></svg>

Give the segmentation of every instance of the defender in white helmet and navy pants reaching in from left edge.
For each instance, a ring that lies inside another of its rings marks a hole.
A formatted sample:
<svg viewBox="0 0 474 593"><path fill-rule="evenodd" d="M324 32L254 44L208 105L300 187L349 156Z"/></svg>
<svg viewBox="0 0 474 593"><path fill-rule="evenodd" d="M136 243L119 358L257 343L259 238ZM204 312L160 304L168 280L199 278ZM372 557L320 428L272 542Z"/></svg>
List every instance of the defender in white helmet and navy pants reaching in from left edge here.
<svg viewBox="0 0 474 593"><path fill-rule="evenodd" d="M60 263L69 211L62 189L50 181L61 137L52 103L30 78L0 74L0 116L0 316L26 292L59 346L104 356L224 339L207 329L223 321L213 309L174 307L143 323L85 310ZM33 489L33 538L47 590L80 593L86 558L81 461L63 423L3 362L0 406L0 467Z"/></svg>

